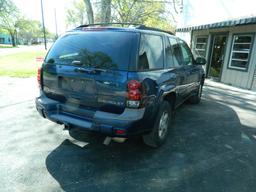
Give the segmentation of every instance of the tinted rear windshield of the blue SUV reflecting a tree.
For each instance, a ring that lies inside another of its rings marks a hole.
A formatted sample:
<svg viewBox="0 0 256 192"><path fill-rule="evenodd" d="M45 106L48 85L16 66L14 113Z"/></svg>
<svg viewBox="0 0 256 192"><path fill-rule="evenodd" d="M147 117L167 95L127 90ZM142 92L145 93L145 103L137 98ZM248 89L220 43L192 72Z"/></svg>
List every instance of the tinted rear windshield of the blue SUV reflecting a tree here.
<svg viewBox="0 0 256 192"><path fill-rule="evenodd" d="M56 41L46 63L127 70L130 62L132 32L76 32Z"/></svg>

